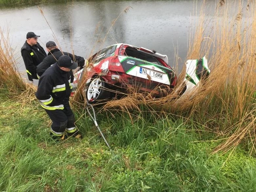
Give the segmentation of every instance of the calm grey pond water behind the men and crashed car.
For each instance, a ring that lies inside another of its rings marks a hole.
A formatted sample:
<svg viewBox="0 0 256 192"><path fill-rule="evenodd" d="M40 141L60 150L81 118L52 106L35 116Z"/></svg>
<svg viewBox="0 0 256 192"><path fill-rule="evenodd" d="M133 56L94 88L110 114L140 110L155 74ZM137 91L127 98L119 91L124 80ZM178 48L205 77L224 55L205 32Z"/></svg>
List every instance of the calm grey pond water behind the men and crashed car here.
<svg viewBox="0 0 256 192"><path fill-rule="evenodd" d="M206 5L207 14L214 12L214 0L208 0ZM0 9L0 27L7 31L8 26L10 30L11 46L22 74L26 73L20 48L29 31L41 35L38 42L44 48L47 41L56 38L63 51L74 50L85 58L115 43L166 54L170 66L174 66L178 54L180 72L202 1L79 1L38 6L43 14L37 6Z"/></svg>

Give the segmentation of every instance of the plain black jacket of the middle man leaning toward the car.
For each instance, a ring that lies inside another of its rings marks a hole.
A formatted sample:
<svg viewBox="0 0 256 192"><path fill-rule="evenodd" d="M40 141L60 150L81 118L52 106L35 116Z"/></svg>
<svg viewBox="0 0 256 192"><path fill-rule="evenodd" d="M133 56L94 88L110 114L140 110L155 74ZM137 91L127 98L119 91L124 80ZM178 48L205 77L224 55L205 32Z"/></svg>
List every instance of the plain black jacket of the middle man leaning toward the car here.
<svg viewBox="0 0 256 192"><path fill-rule="evenodd" d="M45 57L44 60L39 65L37 65L37 77L39 78L45 72L45 70L47 70L51 65L56 63L59 57L63 54L70 56L73 61L78 63L79 67L82 67L84 65L83 57L76 56L67 52L61 52L59 49L53 49L48 53L47 57Z"/></svg>

